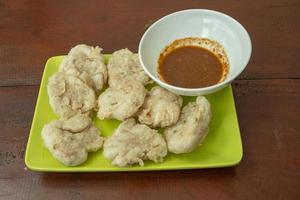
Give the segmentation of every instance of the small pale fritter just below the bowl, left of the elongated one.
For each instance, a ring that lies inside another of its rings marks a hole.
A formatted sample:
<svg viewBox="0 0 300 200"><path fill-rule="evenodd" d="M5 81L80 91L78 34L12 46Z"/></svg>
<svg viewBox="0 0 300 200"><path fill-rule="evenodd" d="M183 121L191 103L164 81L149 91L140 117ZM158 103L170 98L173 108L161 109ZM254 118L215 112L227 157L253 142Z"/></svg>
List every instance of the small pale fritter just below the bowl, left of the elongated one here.
<svg viewBox="0 0 300 200"><path fill-rule="evenodd" d="M167 127L178 121L181 105L181 96L156 86L146 96L138 119L150 127Z"/></svg>

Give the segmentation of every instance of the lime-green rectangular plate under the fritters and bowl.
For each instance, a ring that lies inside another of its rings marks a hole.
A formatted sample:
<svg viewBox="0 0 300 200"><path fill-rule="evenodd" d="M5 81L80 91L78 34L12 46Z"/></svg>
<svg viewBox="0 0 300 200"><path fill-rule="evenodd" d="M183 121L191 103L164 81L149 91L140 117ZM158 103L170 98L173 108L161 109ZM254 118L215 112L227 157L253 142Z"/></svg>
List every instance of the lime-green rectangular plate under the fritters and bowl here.
<svg viewBox="0 0 300 200"><path fill-rule="evenodd" d="M107 61L109 55L105 58ZM50 58L44 69L25 155L25 163L29 169L47 172L175 170L227 167L241 161L243 153L239 125L232 89L228 86L207 96L213 113L210 131L202 145L192 153L181 155L169 153L162 163L146 161L143 167L118 168L104 159L100 150L96 153L89 153L88 160L80 166L62 165L43 146L40 135L46 123L57 119L48 103L47 83L48 78L58 70L62 59L63 56ZM194 101L195 97L183 97L183 99L185 105L187 102ZM93 117L93 120L103 136L111 135L120 123L117 120L99 120L97 117Z"/></svg>

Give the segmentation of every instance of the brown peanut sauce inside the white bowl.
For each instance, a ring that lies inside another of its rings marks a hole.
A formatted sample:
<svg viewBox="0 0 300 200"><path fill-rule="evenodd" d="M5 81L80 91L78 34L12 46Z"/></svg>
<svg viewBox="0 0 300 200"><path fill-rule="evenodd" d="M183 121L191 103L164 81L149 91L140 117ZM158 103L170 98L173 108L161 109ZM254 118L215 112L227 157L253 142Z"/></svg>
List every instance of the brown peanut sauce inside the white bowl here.
<svg viewBox="0 0 300 200"><path fill-rule="evenodd" d="M217 84L224 76L221 60L210 50L199 46L181 46L160 54L158 74L174 86L200 88Z"/></svg>

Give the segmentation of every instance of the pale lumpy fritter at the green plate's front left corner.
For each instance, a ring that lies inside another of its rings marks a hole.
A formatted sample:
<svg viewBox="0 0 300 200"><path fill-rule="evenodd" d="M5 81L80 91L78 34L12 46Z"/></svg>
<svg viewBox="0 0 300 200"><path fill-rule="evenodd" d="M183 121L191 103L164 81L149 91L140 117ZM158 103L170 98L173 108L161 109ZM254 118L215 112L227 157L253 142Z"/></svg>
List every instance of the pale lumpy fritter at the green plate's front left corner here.
<svg viewBox="0 0 300 200"><path fill-rule="evenodd" d="M53 157L66 166L82 164L88 152L98 151L104 142L91 119L82 115L52 121L44 126L41 135Z"/></svg>

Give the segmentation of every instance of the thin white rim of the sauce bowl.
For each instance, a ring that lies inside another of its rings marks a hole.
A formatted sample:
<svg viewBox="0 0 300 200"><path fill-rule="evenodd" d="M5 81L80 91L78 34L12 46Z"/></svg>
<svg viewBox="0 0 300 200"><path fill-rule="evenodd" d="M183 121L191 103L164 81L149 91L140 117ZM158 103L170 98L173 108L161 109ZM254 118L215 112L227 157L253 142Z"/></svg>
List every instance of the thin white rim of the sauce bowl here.
<svg viewBox="0 0 300 200"><path fill-rule="evenodd" d="M214 85L211 85L211 86L208 86L208 87L184 88L184 87L174 86L174 85L171 85L171 84L168 84L166 82L161 81L159 78L156 78L154 75L152 75L148 71L148 69L145 67L145 64L144 64L144 62L142 60L142 56L141 56L140 52L141 52L141 49L142 49L143 41L145 40L145 37L147 36L147 34L149 33L149 31L154 26L156 26L157 24L162 23L162 21L164 21L165 19L173 17L174 15L179 15L179 14L186 13L186 12L206 12L206 13L213 13L215 15L219 15L221 17L227 18L227 19L233 21L234 23L236 23L241 28L241 30L245 33L245 35L246 35L246 43L248 43L248 45L249 45L249 54L246 55L246 58L244 59L242 67L238 68L237 72L235 74L233 74L233 76L231 78L225 79L224 81L222 81L220 83L217 83L217 84L214 84ZM144 32L144 34L143 34L143 36L142 36L142 38L140 40L138 52L139 52L139 60L141 62L142 68L148 74L148 76L150 76L158 84L160 84L160 85L162 85L162 86L164 86L166 88L173 89L173 90L188 91L188 92L198 92L198 91L209 91L209 90L216 89L216 88L218 88L220 86L223 86L225 84L230 83L236 77L238 77L244 71L244 69L246 68L247 64L249 63L249 60L250 60L251 54L252 54L252 42L251 42L250 35L247 32L247 30L245 29L245 27L241 23L239 23L236 19L234 19L233 17L231 17L231 16L229 16L229 15L227 15L225 13L216 11L216 10L209 10L209 9L186 9L186 10L180 10L180 11L173 12L173 13L170 13L168 15L165 15L164 17L162 17L162 18L158 19L157 21L155 21L151 26L149 26L149 28Z"/></svg>

